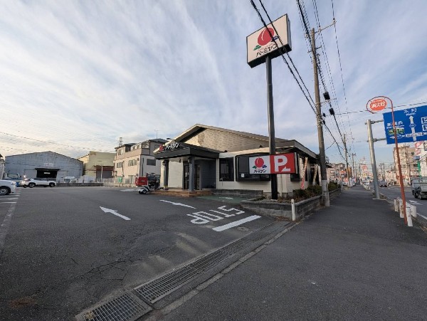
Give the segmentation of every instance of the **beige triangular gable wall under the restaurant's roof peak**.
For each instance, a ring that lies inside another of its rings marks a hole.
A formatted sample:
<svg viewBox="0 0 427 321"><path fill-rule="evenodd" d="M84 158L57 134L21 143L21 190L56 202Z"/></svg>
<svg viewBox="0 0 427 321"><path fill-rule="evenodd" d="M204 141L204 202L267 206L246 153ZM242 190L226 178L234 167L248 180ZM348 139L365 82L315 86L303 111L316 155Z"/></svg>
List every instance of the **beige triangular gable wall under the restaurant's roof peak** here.
<svg viewBox="0 0 427 321"><path fill-rule="evenodd" d="M185 141L188 144L212 148L219 151L237 152L239 150L259 148L260 145L268 147L268 142L255 137L245 137L236 133L206 129L203 132Z"/></svg>

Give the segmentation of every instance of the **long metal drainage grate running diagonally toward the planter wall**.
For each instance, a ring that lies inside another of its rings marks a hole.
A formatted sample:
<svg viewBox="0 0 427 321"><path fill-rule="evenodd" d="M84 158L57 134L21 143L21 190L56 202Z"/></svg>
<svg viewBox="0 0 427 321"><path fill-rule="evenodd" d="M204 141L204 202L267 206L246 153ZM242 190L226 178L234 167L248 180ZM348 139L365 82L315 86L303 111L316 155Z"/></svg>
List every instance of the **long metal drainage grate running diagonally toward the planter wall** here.
<svg viewBox="0 0 427 321"><path fill-rule="evenodd" d="M263 238L269 237L272 233L282 231L283 227L288 225L289 222L279 223L273 228L265 228L256 233L251 233L248 236L241 238L240 240L228 244L212 253L209 253L198 260L189 263L182 268L162 275L161 277L152 280L148 283L140 285L135 288L135 292L147 303L154 303L161 298L164 298L169 293L180 288L185 283L189 282L192 278L203 273L205 270L214 268L226 258L230 258L234 254L241 251L243 248L248 247L248 244L262 240Z"/></svg>

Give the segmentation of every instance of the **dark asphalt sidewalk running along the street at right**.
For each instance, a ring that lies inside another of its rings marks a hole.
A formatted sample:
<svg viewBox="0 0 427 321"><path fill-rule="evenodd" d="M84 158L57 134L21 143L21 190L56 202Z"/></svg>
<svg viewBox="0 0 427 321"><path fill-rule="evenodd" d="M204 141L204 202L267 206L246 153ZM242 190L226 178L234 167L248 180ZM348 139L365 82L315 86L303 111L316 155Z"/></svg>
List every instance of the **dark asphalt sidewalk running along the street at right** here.
<svg viewBox="0 0 427 321"><path fill-rule="evenodd" d="M162 320L427 320L427 234L345 191Z"/></svg>

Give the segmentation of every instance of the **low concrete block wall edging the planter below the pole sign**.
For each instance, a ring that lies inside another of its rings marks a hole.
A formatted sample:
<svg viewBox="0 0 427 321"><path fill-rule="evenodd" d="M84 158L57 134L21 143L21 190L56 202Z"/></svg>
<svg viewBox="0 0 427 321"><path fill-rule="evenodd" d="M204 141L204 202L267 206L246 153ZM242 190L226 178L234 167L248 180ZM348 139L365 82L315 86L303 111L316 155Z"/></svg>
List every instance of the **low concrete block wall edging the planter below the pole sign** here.
<svg viewBox="0 0 427 321"><path fill-rule="evenodd" d="M330 199L336 198L340 193L341 191L339 189L330 192ZM307 214L310 214L312 211L319 209L321 206L321 201L322 196L315 196L311 199L305 199L304 201L295 203L295 218L300 220ZM292 220L292 206L290 203L256 201L253 199L248 201L241 201L241 206L243 209L248 209L255 212L256 214Z"/></svg>

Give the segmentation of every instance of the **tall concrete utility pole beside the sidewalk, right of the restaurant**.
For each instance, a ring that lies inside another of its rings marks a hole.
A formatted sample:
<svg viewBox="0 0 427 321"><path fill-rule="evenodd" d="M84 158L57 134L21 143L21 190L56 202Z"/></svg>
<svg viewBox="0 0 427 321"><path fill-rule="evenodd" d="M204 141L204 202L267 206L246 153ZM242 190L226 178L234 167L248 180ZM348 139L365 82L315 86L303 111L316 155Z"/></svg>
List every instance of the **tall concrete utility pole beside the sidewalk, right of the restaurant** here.
<svg viewBox="0 0 427 321"><path fill-rule="evenodd" d="M315 43L315 28L312 28L312 55L313 72L315 73L315 101L316 101L316 120L317 120L317 138L319 140L320 174L322 176L322 200L324 206L330 206L330 196L327 189L327 172L325 157L325 140L323 138L322 110L320 108L319 75L317 74L317 53Z"/></svg>

